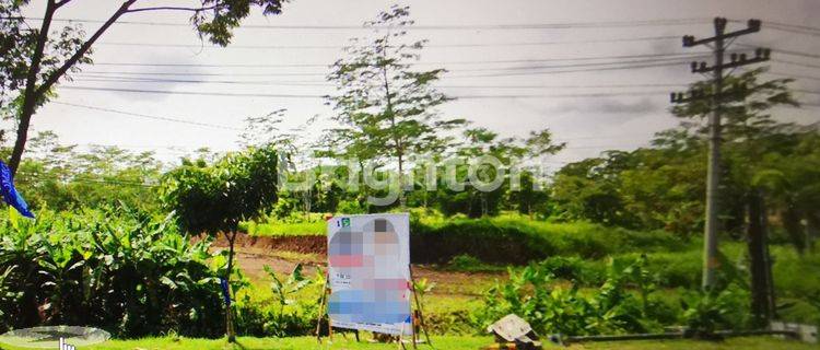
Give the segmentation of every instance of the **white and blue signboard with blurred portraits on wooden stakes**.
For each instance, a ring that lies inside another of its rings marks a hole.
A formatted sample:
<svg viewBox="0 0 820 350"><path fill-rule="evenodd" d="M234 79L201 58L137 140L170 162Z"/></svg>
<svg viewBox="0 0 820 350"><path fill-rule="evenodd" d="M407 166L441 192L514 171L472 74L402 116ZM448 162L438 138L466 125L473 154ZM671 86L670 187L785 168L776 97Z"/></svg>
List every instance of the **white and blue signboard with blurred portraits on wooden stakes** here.
<svg viewBox="0 0 820 350"><path fill-rule="evenodd" d="M412 335L409 215L340 215L327 232L331 325Z"/></svg>

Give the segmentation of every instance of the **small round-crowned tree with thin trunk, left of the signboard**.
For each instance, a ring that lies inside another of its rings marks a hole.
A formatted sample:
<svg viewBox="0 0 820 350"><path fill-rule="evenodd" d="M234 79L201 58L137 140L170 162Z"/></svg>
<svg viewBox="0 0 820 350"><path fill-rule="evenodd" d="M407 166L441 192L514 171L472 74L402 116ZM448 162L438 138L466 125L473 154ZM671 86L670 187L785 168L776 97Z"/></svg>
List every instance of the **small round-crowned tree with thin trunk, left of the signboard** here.
<svg viewBox="0 0 820 350"><path fill-rule="evenodd" d="M224 234L229 244L224 279L233 272L234 242L239 222L253 220L277 202L278 156L273 148L231 153L211 166L183 165L164 176L161 197L178 224L189 233ZM233 311L225 310L233 341Z"/></svg>

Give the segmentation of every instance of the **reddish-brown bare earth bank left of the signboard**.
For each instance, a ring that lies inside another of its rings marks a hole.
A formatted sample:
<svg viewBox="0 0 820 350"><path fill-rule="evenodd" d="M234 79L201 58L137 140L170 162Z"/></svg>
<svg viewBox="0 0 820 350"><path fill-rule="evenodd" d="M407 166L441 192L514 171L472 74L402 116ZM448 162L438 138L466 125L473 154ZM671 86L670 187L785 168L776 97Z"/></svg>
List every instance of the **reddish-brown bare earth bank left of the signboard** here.
<svg viewBox="0 0 820 350"><path fill-rule="evenodd" d="M196 238L195 238L196 240ZM213 246L227 247L227 240L220 235ZM302 254L325 255L327 250L327 237L325 236L251 236L241 232L236 236L236 247L257 248L270 250L296 252Z"/></svg>

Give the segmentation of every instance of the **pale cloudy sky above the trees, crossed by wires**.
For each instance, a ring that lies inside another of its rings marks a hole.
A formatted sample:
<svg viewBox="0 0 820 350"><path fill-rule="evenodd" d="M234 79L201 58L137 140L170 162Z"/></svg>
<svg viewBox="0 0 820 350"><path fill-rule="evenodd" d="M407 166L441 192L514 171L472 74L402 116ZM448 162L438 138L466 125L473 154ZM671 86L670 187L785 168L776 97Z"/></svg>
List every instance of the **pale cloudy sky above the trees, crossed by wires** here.
<svg viewBox="0 0 820 350"><path fill-rule="evenodd" d="M42 16L44 1L32 2L26 15ZM99 25L95 21L107 19L118 3L74 0L56 18L91 20L80 22L91 33ZM187 3L196 5L138 1ZM65 144L119 145L173 161L200 147L237 149L245 118L285 108L283 130L317 116L300 137L316 140L332 126L332 109L319 97L332 93L324 80L327 65L343 55L349 38L371 34L360 28L362 23L393 3L294 0L281 15L267 18L256 9L227 48L202 42L188 25L189 13L128 14L94 46L95 65L83 66L73 81L59 85L54 103L34 117L33 130L51 130ZM666 55L707 55L706 47L683 48L680 37L711 36L716 15L739 21L729 23L728 31L746 27L748 19L762 20L760 33L738 38L731 49L771 47L769 66L781 75L769 77L796 78L793 86L803 91L798 100L820 105L820 30L805 27L820 27L820 1L400 3L410 5L415 21L409 35L429 39L418 67L448 70L437 85L458 98L440 107L442 117L466 118L504 137L549 128L567 142L546 160L552 167L605 150L646 145L655 132L676 126L668 93L704 77L690 72L691 58ZM644 67L619 69L630 60L644 61L632 63ZM776 116L810 124L820 121L819 110L782 108Z"/></svg>

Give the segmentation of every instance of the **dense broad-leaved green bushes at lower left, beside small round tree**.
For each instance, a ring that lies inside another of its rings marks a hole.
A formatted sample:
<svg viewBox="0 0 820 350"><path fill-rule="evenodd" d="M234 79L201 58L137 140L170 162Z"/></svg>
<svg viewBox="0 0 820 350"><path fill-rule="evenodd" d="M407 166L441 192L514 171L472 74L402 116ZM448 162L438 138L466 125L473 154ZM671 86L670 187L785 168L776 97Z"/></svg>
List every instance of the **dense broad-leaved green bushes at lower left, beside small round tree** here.
<svg viewBox="0 0 820 350"><path fill-rule="evenodd" d="M214 336L218 271L209 243L171 218L127 208L38 212L0 224L0 312L7 327L90 325L119 337Z"/></svg>

